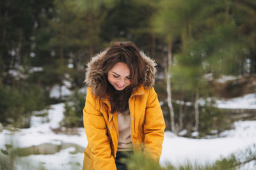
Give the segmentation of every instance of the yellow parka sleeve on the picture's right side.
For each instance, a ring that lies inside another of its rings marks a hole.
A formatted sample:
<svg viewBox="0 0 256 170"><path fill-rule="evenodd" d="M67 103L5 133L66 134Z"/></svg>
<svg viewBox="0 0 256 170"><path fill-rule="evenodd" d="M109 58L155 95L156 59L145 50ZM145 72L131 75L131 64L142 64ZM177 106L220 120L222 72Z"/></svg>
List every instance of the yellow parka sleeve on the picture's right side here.
<svg viewBox="0 0 256 170"><path fill-rule="evenodd" d="M148 94L147 108L145 115L145 153L149 153L153 159L159 161L164 139L164 118L157 94L152 87Z"/></svg>

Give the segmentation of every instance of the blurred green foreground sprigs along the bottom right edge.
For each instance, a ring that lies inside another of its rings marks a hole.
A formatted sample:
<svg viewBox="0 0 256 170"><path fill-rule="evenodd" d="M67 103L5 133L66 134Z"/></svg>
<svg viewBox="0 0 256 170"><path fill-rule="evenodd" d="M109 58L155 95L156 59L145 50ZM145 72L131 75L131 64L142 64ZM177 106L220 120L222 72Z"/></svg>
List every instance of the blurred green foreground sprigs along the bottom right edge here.
<svg viewBox="0 0 256 170"><path fill-rule="evenodd" d="M165 166L160 166L158 162L150 159L148 155L144 155L143 153L138 153L135 155L129 155L128 159L125 159L124 162L127 164L129 170L132 169L140 169L140 170L148 170L148 169L161 169L161 170L222 170L222 169L243 169L247 163L256 161L256 147L253 145L252 147L247 148L243 152L232 153L226 158L222 158L216 160L213 163L207 162L189 162L179 165L177 167L172 166L169 162L165 164Z"/></svg>

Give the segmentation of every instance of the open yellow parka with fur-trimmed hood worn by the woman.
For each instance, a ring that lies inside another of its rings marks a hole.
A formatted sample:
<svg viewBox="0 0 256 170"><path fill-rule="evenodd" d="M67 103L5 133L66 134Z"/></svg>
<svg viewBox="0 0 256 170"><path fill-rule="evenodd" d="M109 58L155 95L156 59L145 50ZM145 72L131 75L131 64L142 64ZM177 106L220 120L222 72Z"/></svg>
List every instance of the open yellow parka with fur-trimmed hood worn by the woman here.
<svg viewBox="0 0 256 170"><path fill-rule="evenodd" d="M164 118L161 106L154 90L154 61L143 54L147 69L145 83L132 91L129 99L131 115L131 139L134 152L138 150L149 153L159 160L164 139ZM86 83L89 87L83 110L84 129L88 146L84 151L83 169L116 170L115 155L118 144L117 113L111 114L108 99L95 98L94 92L100 82L97 79L97 67L104 52L92 59L88 64ZM95 73L96 72L96 73Z"/></svg>

